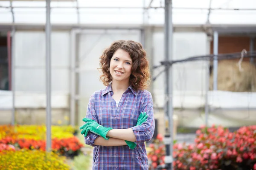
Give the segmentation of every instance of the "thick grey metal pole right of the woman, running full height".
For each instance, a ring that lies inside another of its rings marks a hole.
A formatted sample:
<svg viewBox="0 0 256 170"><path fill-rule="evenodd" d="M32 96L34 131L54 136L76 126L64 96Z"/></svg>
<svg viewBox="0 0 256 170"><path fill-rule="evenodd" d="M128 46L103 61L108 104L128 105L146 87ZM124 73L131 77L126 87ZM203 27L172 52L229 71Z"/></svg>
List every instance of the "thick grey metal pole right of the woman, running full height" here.
<svg viewBox="0 0 256 170"><path fill-rule="evenodd" d="M166 61L172 61L172 0L165 0L165 59ZM165 143L166 143L166 168L172 170L172 150L173 150L173 111L172 111L172 65L166 66L166 92L167 102L165 105L166 117L169 123L169 130L166 131Z"/></svg>

